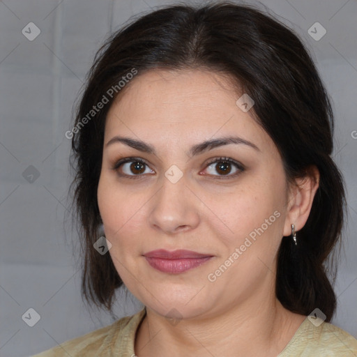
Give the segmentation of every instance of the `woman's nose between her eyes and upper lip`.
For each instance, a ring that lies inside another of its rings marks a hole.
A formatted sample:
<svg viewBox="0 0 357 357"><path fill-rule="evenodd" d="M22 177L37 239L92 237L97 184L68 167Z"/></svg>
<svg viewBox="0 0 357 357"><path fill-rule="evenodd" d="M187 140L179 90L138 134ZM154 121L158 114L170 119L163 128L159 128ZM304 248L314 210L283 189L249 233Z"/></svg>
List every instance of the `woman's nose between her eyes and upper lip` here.
<svg viewBox="0 0 357 357"><path fill-rule="evenodd" d="M186 185L184 176L176 183L164 179L152 200L149 224L165 234L178 234L199 225L199 199Z"/></svg>

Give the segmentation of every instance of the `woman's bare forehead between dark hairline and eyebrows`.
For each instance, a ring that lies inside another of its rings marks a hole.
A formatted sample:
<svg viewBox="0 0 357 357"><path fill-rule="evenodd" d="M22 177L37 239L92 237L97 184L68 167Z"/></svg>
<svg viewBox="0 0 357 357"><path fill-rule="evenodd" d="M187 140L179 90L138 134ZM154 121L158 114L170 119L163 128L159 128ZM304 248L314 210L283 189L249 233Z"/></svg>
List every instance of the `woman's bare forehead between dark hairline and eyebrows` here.
<svg viewBox="0 0 357 357"><path fill-rule="evenodd" d="M240 96L229 78L218 73L150 70L132 79L112 104L105 141L126 134L149 142L197 142L232 133L267 140L251 113L236 105Z"/></svg>

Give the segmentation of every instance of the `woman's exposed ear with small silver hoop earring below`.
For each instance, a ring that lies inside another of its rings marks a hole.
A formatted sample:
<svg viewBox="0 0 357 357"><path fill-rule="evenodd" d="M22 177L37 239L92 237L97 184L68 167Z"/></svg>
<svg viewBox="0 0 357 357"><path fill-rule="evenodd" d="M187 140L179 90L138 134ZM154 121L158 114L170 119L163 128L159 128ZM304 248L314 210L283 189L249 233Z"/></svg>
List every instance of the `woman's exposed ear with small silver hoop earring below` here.
<svg viewBox="0 0 357 357"><path fill-rule="evenodd" d="M304 227L309 218L314 195L319 188L319 169L312 165L306 169L305 175L295 179L290 185L287 215L284 222L284 236L291 235L291 225L295 225L295 231Z"/></svg>

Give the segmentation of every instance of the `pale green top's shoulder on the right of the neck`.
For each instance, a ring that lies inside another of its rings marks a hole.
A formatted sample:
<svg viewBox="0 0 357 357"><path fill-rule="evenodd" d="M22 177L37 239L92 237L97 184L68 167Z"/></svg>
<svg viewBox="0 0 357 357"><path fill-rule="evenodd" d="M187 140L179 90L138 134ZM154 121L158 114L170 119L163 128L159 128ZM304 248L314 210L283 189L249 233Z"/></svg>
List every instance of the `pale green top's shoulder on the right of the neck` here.
<svg viewBox="0 0 357 357"><path fill-rule="evenodd" d="M278 357L357 356L357 340L347 331L317 318L307 317Z"/></svg>

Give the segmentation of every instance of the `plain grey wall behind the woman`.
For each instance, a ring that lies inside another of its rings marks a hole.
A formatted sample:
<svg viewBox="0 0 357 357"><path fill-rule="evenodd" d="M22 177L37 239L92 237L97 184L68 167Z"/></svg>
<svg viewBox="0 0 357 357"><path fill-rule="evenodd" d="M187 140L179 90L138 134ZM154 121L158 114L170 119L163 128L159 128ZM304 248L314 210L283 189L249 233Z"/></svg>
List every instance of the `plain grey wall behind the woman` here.
<svg viewBox="0 0 357 357"><path fill-rule="evenodd" d="M80 298L72 249L76 236L65 237L63 229L70 182L70 140L64 134L84 75L109 31L132 15L168 3L174 1L0 2L0 356L29 356L112 322L109 314L90 314ZM333 324L357 337L357 1L264 4L301 35L333 99L334 157L349 204ZM29 22L41 31L33 41L22 34ZM318 41L307 32L315 22L327 31ZM23 176L30 165L40 174L32 183ZM30 307L40 314L33 327L22 320ZM122 297L116 315L140 307L130 295Z"/></svg>

